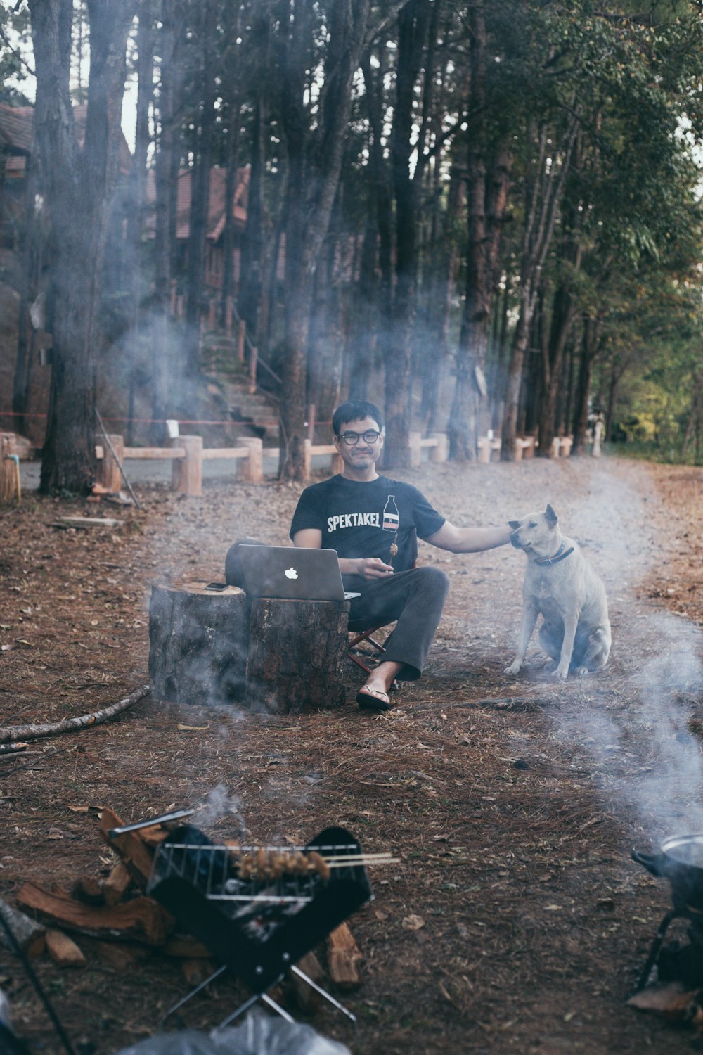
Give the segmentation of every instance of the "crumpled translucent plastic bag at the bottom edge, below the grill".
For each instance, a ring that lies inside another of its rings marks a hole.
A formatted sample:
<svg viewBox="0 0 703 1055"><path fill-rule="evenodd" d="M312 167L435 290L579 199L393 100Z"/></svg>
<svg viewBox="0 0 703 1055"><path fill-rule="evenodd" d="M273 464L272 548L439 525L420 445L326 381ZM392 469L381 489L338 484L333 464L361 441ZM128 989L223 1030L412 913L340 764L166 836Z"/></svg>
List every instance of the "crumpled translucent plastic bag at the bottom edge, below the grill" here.
<svg viewBox="0 0 703 1055"><path fill-rule="evenodd" d="M116 1055L351 1055L346 1044L330 1040L311 1025L287 1022L252 1011L239 1025L160 1033L123 1048Z"/></svg>

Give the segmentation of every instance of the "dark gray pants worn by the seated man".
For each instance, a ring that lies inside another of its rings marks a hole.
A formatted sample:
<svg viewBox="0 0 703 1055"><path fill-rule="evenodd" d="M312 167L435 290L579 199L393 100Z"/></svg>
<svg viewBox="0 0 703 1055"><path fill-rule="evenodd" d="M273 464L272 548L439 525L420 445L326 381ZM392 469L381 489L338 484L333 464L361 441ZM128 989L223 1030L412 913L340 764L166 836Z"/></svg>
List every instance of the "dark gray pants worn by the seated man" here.
<svg viewBox="0 0 703 1055"><path fill-rule="evenodd" d="M369 630L397 619L386 641L383 661L401 663L398 680L414 682L422 674L427 653L442 618L449 592L449 576L441 568L413 568L385 579L345 575L345 589L358 590L351 601L349 629Z"/></svg>

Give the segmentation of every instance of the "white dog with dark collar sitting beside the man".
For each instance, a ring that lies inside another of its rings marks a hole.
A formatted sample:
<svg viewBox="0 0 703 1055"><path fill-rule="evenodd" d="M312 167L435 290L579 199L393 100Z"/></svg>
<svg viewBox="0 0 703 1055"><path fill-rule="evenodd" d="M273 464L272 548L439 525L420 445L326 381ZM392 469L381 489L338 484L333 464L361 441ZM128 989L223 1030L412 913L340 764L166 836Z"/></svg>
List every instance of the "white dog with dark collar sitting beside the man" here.
<svg viewBox="0 0 703 1055"><path fill-rule="evenodd" d="M554 677L569 671L600 670L610 652L610 622L605 587L573 539L559 530L551 505L510 520L510 541L527 555L523 582L523 621L515 658L506 674L516 674L525 660L538 616L540 644L555 661Z"/></svg>

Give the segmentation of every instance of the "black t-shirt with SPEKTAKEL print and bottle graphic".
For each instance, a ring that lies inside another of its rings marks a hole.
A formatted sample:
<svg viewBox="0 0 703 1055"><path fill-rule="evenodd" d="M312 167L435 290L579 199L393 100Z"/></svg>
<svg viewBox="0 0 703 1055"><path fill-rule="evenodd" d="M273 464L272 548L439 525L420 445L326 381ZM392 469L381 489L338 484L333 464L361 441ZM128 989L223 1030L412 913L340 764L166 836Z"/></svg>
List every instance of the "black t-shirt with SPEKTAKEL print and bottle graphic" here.
<svg viewBox="0 0 703 1055"><path fill-rule="evenodd" d="M306 528L323 533L323 549L338 557L379 557L391 563L391 544L398 552L392 560L396 572L412 568L417 538L440 531L445 518L410 483L379 476L371 482L333 476L314 483L300 495L291 538Z"/></svg>

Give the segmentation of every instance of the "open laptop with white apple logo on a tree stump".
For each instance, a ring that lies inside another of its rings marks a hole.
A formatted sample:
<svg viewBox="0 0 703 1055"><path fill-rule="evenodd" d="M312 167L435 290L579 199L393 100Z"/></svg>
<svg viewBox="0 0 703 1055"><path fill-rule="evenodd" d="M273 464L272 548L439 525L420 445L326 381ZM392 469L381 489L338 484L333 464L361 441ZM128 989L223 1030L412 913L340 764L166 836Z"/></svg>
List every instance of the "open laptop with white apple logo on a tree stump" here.
<svg viewBox="0 0 703 1055"><path fill-rule="evenodd" d="M290 545L239 546L247 593L286 600L349 600L334 550Z"/></svg>

